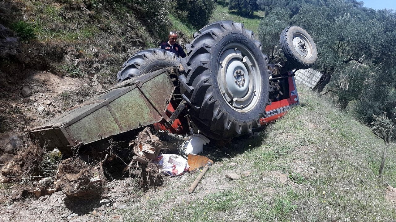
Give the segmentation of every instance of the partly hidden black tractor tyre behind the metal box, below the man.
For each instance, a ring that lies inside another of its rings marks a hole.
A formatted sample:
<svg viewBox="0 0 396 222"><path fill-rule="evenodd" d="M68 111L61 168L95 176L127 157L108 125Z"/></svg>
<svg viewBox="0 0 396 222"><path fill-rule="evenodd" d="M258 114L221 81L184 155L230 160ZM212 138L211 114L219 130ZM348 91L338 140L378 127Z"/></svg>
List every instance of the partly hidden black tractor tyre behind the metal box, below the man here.
<svg viewBox="0 0 396 222"><path fill-rule="evenodd" d="M165 49L142 50L124 62L121 71L117 73L117 81L121 83L135 76L179 65L180 59L175 53L168 52Z"/></svg>

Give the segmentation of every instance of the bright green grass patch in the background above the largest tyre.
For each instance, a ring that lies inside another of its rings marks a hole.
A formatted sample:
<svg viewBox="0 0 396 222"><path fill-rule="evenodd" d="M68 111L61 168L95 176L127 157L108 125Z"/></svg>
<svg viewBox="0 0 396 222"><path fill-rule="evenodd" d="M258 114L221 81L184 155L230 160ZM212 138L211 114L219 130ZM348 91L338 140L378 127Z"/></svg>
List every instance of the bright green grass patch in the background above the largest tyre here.
<svg viewBox="0 0 396 222"><path fill-rule="evenodd" d="M255 11L253 18L242 17L237 15L235 12L228 11L228 6L217 5L215 11L209 23L221 20L232 20L234 22L243 23L245 28L252 30L254 33L258 33L260 20L264 17L263 11Z"/></svg>

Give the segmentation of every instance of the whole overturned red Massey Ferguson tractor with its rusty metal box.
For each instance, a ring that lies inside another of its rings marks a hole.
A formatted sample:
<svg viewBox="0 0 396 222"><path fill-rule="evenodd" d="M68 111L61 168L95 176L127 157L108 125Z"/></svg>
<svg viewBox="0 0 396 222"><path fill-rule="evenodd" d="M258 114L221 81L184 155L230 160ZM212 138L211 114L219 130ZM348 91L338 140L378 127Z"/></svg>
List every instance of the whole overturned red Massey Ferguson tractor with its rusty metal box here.
<svg viewBox="0 0 396 222"><path fill-rule="evenodd" d="M140 51L124 63L116 86L29 134L63 150L150 125L216 140L249 134L299 103L291 70L316 60L314 42L302 28L286 28L280 44L287 61L268 64L243 24L209 24L186 44L185 60L162 49Z"/></svg>

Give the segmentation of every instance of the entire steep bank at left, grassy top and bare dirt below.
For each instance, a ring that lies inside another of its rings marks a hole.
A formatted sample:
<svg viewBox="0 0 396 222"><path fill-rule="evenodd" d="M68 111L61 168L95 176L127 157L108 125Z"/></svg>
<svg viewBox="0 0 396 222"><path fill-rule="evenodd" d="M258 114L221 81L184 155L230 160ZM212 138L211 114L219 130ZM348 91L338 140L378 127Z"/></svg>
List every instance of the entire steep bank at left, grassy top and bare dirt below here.
<svg viewBox="0 0 396 222"><path fill-rule="evenodd" d="M154 43L133 14L116 1L0 2L0 133L21 133L114 85L122 63Z"/></svg>

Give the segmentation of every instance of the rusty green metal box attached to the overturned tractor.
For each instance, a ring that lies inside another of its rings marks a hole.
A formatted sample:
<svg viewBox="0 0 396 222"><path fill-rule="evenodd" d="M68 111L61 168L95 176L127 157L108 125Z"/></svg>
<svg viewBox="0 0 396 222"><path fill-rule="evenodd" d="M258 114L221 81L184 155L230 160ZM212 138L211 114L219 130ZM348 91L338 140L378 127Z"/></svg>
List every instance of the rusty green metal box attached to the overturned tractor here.
<svg viewBox="0 0 396 222"><path fill-rule="evenodd" d="M159 122L174 90L168 70L147 73L99 93L29 134L50 149L92 143Z"/></svg>

